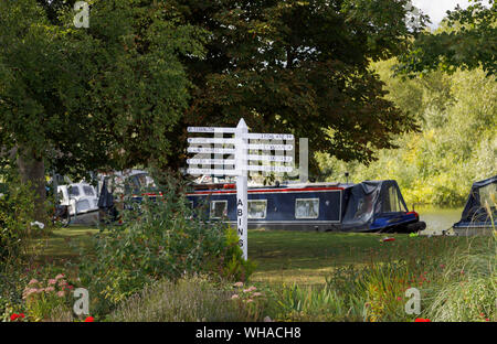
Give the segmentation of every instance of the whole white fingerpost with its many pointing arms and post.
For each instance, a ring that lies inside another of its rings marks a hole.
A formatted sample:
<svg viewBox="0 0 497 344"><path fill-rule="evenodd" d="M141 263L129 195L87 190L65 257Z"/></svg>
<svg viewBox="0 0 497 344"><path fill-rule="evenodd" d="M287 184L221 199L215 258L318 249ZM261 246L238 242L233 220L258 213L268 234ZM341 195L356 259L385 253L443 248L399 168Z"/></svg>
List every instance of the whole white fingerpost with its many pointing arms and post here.
<svg viewBox="0 0 497 344"><path fill-rule="evenodd" d="M248 204L247 204L247 180L248 171L265 171L265 172L292 172L293 165L256 165L248 164L248 161L257 162L279 162L293 163L292 157L273 155L273 154L252 154L248 151L290 151L294 149L293 144L261 144L248 143L248 140L294 140L294 136L289 133L248 133L248 128L243 120L240 120L236 128L219 128L219 127L188 127L188 132L191 133L228 133L234 135L234 138L189 138L188 143L193 144L188 148L189 153L200 154L216 154L222 157L230 154L228 159L188 159L187 163L189 174L210 174L210 175L233 175L236 176L236 228L239 233L239 245L243 250L243 258L247 259L247 225L248 225ZM195 146L197 144L197 146ZM222 144L231 146L232 148L212 148L198 147L199 144ZM233 158L234 155L234 158ZM198 168L198 165L202 168ZM232 165L234 169L204 169L203 165Z"/></svg>

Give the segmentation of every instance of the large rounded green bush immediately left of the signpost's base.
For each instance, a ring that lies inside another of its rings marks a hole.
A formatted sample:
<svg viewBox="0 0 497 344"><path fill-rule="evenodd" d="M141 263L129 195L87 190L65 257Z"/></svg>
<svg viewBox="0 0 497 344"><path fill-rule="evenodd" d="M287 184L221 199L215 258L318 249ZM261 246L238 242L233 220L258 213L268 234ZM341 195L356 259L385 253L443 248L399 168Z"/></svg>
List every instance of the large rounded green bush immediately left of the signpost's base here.
<svg viewBox="0 0 497 344"><path fill-rule="evenodd" d="M232 229L207 222L203 209L191 209L173 181L162 190L157 198L126 204L123 226L102 230L83 252L81 283L98 303L96 312L162 278L204 272L247 279L253 271L252 262L242 261Z"/></svg>

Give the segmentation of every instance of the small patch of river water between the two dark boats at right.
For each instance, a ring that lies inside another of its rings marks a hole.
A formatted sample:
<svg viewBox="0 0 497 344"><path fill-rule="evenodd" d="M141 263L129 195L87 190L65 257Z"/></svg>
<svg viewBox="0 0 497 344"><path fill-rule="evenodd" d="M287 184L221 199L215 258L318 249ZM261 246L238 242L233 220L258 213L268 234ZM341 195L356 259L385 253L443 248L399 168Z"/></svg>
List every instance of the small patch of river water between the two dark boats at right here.
<svg viewBox="0 0 497 344"><path fill-rule="evenodd" d="M426 229L423 234L440 235L442 230L447 230L461 219L463 207L458 208L443 208L430 205L419 205L415 207L420 214L420 221L426 223Z"/></svg>

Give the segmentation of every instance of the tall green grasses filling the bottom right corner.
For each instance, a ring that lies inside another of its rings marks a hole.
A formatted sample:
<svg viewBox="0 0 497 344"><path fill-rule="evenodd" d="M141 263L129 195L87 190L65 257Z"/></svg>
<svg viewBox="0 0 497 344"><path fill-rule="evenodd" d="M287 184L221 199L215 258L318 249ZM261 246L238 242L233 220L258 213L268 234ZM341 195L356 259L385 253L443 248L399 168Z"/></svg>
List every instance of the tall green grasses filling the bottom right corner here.
<svg viewBox="0 0 497 344"><path fill-rule="evenodd" d="M372 252L364 266L335 269L321 288L283 288L276 293L279 312L274 316L284 321L497 320L495 237L413 240L403 255ZM412 287L421 293L421 314L405 311L405 291Z"/></svg>

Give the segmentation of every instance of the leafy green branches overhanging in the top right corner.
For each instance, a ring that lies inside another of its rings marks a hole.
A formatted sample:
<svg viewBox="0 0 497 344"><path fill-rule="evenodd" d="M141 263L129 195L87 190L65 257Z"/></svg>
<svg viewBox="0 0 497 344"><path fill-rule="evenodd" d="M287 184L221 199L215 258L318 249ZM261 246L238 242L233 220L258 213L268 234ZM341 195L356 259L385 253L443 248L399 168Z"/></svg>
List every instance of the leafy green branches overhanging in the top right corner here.
<svg viewBox="0 0 497 344"><path fill-rule="evenodd" d="M408 53L400 57L396 68L401 74L414 76L430 71L453 73L457 68L479 66L487 75L497 72L497 3L472 0L472 4L447 11L442 29L422 33L413 41Z"/></svg>

